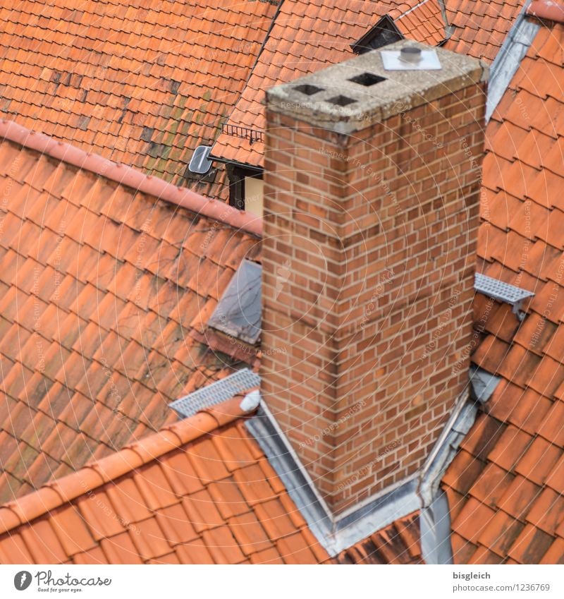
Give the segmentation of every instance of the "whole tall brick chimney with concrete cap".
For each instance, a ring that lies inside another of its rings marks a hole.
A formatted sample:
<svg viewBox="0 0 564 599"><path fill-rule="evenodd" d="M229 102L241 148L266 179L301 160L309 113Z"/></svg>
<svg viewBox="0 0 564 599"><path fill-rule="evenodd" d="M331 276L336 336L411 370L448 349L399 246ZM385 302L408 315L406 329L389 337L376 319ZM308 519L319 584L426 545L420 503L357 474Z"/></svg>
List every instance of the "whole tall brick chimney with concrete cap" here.
<svg viewBox="0 0 564 599"><path fill-rule="evenodd" d="M467 392L485 79L403 40L267 92L262 394L333 514Z"/></svg>

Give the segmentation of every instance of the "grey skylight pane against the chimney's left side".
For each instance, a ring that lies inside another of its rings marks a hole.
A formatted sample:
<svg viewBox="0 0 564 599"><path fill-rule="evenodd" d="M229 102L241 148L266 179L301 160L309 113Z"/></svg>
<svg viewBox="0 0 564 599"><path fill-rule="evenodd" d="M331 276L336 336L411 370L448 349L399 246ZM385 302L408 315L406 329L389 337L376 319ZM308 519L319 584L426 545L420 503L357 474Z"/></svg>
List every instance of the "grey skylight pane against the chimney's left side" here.
<svg viewBox="0 0 564 599"><path fill-rule="evenodd" d="M261 276L261 265L243 260L223 292L208 326L255 345L261 325Z"/></svg>

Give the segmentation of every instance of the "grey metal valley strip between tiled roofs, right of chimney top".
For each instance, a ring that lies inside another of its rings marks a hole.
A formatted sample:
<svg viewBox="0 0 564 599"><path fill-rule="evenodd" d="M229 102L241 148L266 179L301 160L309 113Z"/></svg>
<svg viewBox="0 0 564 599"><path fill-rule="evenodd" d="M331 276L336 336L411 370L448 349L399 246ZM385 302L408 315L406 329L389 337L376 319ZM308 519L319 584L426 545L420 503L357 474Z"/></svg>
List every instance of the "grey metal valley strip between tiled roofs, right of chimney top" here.
<svg viewBox="0 0 564 599"><path fill-rule="evenodd" d="M525 14L530 2L531 0L527 0L523 5L522 11L517 16L513 27L499 49L494 63L491 65L486 100L486 123L494 113L503 94L505 94L513 75L517 73L517 68L519 68L540 28L539 23L528 20Z"/></svg>

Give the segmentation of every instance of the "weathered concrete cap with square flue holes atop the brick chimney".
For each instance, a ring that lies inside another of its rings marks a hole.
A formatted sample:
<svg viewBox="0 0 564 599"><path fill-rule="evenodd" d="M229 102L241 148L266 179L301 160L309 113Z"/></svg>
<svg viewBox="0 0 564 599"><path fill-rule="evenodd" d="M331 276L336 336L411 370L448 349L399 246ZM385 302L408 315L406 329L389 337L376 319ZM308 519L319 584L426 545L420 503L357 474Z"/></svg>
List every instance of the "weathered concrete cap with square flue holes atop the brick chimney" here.
<svg viewBox="0 0 564 599"><path fill-rule="evenodd" d="M401 51L404 47L434 50L441 68L386 70L381 53ZM272 87L266 92L266 104L271 111L314 126L352 133L472 83L481 83L487 77L488 67L478 59L412 40L400 40Z"/></svg>

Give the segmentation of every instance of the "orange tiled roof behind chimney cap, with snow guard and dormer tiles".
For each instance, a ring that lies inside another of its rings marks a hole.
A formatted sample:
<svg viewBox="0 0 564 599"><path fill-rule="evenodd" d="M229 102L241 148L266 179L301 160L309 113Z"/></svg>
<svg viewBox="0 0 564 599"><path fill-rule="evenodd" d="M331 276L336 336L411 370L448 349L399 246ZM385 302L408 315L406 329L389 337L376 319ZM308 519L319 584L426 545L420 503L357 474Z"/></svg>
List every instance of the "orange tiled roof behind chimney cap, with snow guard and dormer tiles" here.
<svg viewBox="0 0 564 599"><path fill-rule="evenodd" d="M437 32L440 29L438 3L429 0L418 6L420 4L419 0L401 3L355 0L345 4L284 0L228 124L264 131L265 89L352 57L350 44L372 29L385 14L396 19L417 6L415 11L401 18L398 26L406 37L436 44L444 37ZM212 155L216 157L257 167L262 167L263 152L261 141L250 143L227 133L219 135L212 148Z"/></svg>

